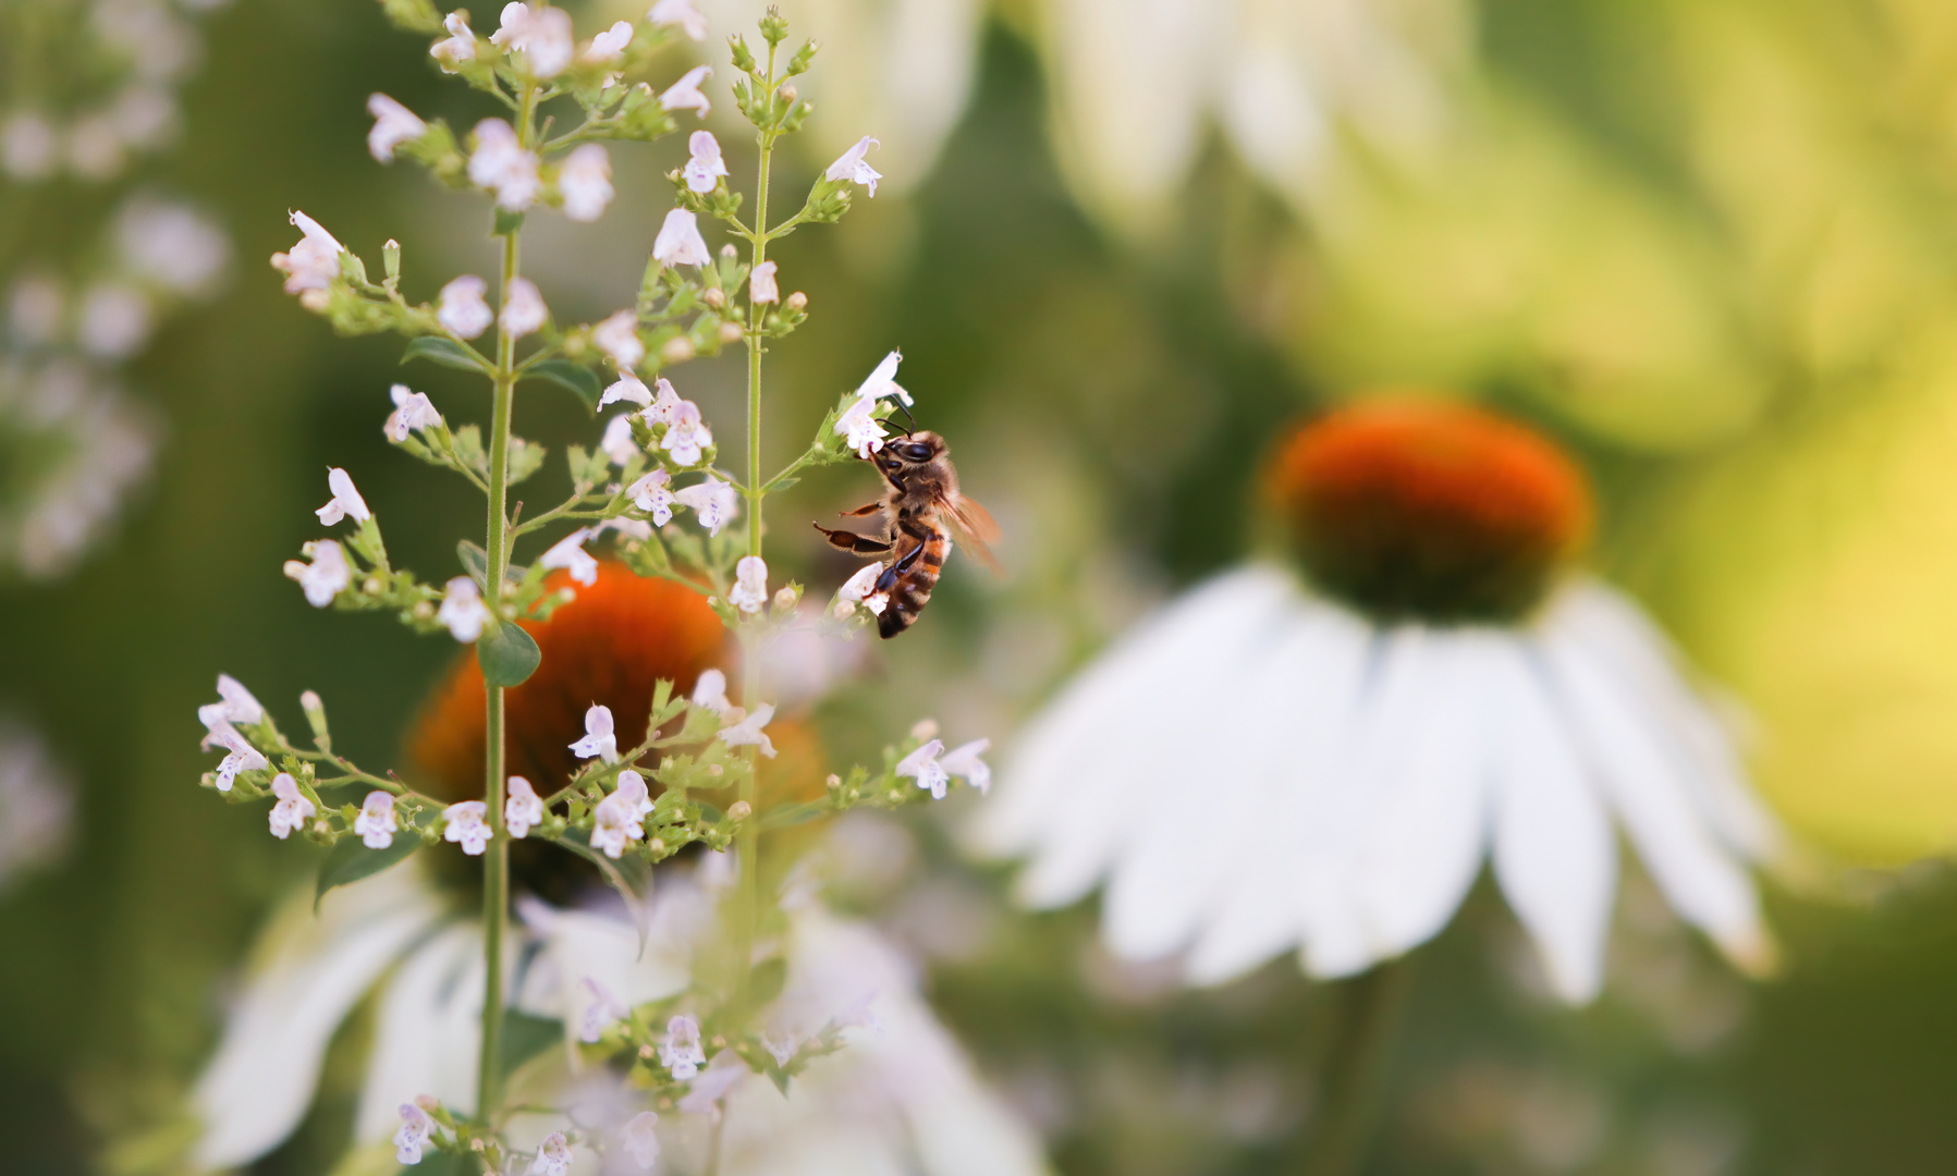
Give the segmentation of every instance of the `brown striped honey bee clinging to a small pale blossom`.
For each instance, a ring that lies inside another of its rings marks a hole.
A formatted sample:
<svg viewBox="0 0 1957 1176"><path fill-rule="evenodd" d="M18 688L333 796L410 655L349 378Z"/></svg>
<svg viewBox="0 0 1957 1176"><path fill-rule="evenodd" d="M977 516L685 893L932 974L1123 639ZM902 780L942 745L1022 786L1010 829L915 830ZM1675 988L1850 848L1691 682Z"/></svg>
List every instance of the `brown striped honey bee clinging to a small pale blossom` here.
<svg viewBox="0 0 1957 1176"><path fill-rule="evenodd" d="M861 556L888 556L875 591L888 593L888 605L877 616L877 632L885 640L910 628L932 599L937 573L951 554L951 538L998 571L988 544L998 542L998 524L973 499L959 493L959 472L951 468L945 438L935 432L910 432L883 446L869 458L890 485L883 499L843 511L845 519L883 515L885 538L832 530L816 522L832 548Z"/></svg>

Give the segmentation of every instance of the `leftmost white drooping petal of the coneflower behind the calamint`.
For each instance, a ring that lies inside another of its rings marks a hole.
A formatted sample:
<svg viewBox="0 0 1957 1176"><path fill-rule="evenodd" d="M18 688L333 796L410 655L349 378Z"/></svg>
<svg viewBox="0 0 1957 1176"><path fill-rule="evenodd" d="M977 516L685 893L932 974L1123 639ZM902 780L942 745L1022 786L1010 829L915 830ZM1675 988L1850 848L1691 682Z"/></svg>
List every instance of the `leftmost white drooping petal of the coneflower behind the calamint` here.
<svg viewBox="0 0 1957 1176"><path fill-rule="evenodd" d="M327 894L296 894L260 939L262 963L225 1023L194 1100L198 1162L233 1168L292 1135L313 1102L327 1041L368 986L440 914L411 871Z"/></svg>

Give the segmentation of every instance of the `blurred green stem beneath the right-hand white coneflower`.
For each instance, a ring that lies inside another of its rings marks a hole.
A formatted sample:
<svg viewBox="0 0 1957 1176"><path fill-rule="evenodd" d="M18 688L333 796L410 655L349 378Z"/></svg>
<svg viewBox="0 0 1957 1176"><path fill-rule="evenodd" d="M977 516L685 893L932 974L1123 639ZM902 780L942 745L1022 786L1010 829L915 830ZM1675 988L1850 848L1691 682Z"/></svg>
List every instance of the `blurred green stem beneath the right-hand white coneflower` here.
<svg viewBox="0 0 1957 1176"><path fill-rule="evenodd" d="M1344 1016L1325 1059L1323 1109L1303 1176L1352 1176L1366 1164L1380 1121L1386 1063L1407 996L1407 959L1389 959L1346 984Z"/></svg>

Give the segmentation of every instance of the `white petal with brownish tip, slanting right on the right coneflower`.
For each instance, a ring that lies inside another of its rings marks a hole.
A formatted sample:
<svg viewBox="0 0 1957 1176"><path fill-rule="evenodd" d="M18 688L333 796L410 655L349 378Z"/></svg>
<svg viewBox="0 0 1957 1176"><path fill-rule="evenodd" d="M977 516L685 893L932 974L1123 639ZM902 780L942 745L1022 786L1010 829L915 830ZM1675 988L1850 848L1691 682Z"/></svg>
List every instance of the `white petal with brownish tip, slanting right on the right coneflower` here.
<svg viewBox="0 0 1957 1176"><path fill-rule="evenodd" d="M1556 697L1581 736L1583 757L1652 881L1738 963L1765 963L1753 884L1693 806L1689 777L1665 755L1663 736L1654 730L1650 699L1626 691L1591 650L1564 632L1544 632L1542 650Z"/></svg>

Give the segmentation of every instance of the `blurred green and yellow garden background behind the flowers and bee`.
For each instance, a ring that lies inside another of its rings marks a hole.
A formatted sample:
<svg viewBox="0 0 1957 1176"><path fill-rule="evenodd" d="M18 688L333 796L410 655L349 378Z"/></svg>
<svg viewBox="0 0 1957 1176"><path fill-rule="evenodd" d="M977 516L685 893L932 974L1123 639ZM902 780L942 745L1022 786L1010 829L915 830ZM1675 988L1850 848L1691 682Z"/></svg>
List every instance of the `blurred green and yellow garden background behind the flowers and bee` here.
<svg viewBox="0 0 1957 1176"><path fill-rule="evenodd" d="M718 37L755 6L706 8ZM1951 1168L1957 6L785 8L830 41L820 129L791 166L808 178L881 133L890 188L779 252L812 323L771 360L769 446L798 448L902 346L920 417L1008 532L1008 577L949 575L930 624L826 704L840 753L920 710L959 738L1008 732L1149 603L1247 550L1258 456L1299 413L1382 387L1479 397L1587 462L1597 565L1746 706L1759 787L1808 855L1773 882L1779 978L1730 976L1632 881L1611 988L1575 1012L1515 978L1519 933L1478 894L1421 951L1370 1170ZM573 12L585 31L640 16ZM84 8L0 14L10 110L68 102L102 68L57 53ZM90 264L129 190L188 200L233 247L223 292L121 368L162 440L119 528L65 575L0 583L0 712L76 785L67 853L0 879L8 1172L98 1170L166 1121L256 920L311 869L260 812L196 789L213 675L288 724L315 689L354 757L389 761L452 656L315 612L278 575L315 530L323 468L354 472L395 560L431 577L478 513L380 436L399 342L333 339L264 258L303 207L368 256L401 239L411 297L487 272L479 202L362 143L374 90L454 125L479 104L376 4L233 0L196 25L170 151L119 180L0 190L8 280ZM597 225L536 217L526 270L560 321L626 303L681 151L614 149ZM407 376L450 419L481 413L458 376ZM724 432L736 378L726 360L675 374ZM540 391L517 427L554 450L591 429ZM29 493L29 456L0 446L18 464L0 491ZM777 519L867 489L814 479ZM783 530L791 573L842 577ZM1102 957L1090 910L1010 914L951 824L877 834L908 847L908 881L855 902L933 963L941 1012L1057 1164L1286 1170L1337 986L1280 961L1174 994ZM262 1170L307 1170L307 1147Z"/></svg>

